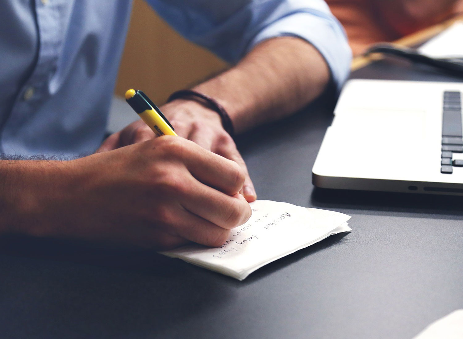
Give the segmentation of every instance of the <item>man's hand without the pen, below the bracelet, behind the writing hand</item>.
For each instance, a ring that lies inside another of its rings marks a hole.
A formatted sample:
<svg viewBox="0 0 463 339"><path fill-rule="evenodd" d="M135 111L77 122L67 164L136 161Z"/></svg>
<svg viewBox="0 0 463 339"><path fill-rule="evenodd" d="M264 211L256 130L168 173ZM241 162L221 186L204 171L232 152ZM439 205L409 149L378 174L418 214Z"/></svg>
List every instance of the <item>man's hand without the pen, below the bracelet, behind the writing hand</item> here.
<svg viewBox="0 0 463 339"><path fill-rule="evenodd" d="M245 174L240 194L243 194L248 202L256 200L254 186L243 157L239 154L232 137L225 132L220 116L216 112L189 100L175 100L161 107L161 111L179 136L194 141L207 151L238 163ZM109 136L97 152L114 150L154 137L153 131L142 120L135 121L122 131Z"/></svg>

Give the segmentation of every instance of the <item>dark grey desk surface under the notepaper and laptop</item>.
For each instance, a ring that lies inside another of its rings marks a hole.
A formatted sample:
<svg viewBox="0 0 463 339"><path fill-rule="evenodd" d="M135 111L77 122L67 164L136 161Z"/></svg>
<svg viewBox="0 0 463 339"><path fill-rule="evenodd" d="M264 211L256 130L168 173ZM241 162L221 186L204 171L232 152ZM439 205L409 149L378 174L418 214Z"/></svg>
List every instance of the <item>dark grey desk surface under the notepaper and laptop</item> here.
<svg viewBox="0 0 463 339"><path fill-rule="evenodd" d="M400 66L353 76L451 79ZM148 251L2 239L0 337L411 338L463 308L463 199L313 189L330 122L318 103L239 147L260 199L348 213L352 233L244 282Z"/></svg>

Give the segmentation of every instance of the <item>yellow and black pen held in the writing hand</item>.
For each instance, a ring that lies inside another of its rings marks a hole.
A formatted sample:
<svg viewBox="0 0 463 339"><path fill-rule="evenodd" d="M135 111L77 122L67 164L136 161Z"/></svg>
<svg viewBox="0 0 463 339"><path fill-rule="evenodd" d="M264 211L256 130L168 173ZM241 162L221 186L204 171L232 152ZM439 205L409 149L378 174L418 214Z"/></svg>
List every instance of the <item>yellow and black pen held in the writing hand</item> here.
<svg viewBox="0 0 463 339"><path fill-rule="evenodd" d="M125 101L137 112L140 118L143 119L158 137L162 135L177 135L169 120L167 120L161 110L158 109L142 91L126 91Z"/></svg>

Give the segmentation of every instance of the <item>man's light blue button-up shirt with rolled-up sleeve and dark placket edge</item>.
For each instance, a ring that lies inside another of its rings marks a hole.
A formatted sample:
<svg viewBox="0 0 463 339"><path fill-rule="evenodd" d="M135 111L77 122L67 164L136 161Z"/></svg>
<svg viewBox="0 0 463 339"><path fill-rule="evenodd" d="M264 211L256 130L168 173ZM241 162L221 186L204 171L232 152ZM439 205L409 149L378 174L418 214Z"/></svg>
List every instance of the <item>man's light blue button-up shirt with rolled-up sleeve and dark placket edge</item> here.
<svg viewBox="0 0 463 339"><path fill-rule="evenodd" d="M344 30L322 0L148 2L226 61L265 39L298 36L319 49L338 88L348 76ZM72 157L100 145L130 10L131 0L2 1L1 153Z"/></svg>

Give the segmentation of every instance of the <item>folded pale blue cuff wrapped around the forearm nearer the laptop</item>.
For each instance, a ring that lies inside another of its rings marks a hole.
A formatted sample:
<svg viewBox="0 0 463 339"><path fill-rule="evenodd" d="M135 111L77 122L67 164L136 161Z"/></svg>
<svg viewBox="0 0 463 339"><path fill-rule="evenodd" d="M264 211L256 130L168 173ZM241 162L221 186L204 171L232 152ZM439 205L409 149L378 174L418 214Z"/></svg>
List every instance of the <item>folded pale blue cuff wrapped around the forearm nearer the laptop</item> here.
<svg viewBox="0 0 463 339"><path fill-rule="evenodd" d="M335 18L323 12L288 15L261 30L250 42L247 51L264 40L278 36L300 37L317 48L330 68L338 92L341 90L349 77L352 52L344 29Z"/></svg>

